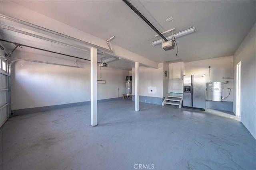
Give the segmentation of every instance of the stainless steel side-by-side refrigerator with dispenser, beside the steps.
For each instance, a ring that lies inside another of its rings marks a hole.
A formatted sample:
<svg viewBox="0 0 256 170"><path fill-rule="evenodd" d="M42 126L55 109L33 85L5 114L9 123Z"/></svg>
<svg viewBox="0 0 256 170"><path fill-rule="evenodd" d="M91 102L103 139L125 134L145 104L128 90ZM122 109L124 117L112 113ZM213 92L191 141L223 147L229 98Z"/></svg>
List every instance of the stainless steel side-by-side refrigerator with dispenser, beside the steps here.
<svg viewBox="0 0 256 170"><path fill-rule="evenodd" d="M205 75L183 77L183 107L205 110Z"/></svg>

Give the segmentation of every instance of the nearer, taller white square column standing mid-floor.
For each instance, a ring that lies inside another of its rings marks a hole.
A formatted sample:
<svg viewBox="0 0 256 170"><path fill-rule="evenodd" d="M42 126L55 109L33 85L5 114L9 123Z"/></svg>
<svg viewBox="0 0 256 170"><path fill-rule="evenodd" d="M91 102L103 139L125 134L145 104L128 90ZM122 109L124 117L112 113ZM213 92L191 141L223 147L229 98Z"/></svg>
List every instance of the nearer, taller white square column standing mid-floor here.
<svg viewBox="0 0 256 170"><path fill-rule="evenodd" d="M91 48L91 125L97 125L97 49Z"/></svg>

